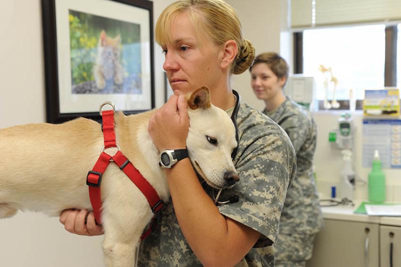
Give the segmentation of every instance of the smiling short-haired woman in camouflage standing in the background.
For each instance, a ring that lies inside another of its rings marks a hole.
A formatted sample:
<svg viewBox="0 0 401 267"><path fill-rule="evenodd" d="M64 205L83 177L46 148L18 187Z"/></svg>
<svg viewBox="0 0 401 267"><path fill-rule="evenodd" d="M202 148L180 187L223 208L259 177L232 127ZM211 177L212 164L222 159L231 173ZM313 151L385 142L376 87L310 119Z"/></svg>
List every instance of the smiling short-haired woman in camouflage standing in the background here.
<svg viewBox="0 0 401 267"><path fill-rule="evenodd" d="M277 53L263 53L250 68L251 86L265 101L263 113L280 125L297 153L297 175L288 189L274 251L276 266L305 266L323 218L312 173L316 124L311 113L283 92L288 65Z"/></svg>

